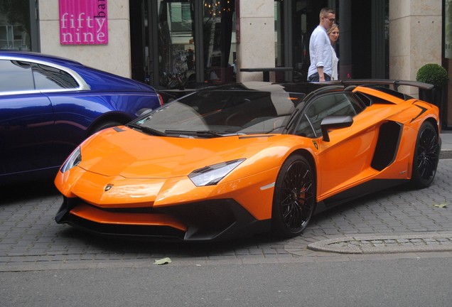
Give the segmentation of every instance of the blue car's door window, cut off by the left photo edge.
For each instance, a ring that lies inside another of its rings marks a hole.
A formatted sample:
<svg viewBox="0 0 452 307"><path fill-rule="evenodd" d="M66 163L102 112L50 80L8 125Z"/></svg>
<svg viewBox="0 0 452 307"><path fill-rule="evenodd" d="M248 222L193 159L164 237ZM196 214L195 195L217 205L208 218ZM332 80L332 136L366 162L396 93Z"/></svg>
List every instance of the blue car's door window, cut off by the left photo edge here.
<svg viewBox="0 0 452 307"><path fill-rule="evenodd" d="M0 92L30 90L35 90L30 63L0 60Z"/></svg>

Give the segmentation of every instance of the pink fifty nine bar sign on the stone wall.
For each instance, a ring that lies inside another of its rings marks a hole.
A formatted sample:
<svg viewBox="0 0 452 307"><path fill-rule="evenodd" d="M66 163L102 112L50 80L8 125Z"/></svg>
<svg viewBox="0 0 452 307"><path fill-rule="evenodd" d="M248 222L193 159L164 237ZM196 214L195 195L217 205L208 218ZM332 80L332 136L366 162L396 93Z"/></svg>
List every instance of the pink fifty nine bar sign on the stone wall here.
<svg viewBox="0 0 452 307"><path fill-rule="evenodd" d="M108 43L107 0L59 0L60 44Z"/></svg>

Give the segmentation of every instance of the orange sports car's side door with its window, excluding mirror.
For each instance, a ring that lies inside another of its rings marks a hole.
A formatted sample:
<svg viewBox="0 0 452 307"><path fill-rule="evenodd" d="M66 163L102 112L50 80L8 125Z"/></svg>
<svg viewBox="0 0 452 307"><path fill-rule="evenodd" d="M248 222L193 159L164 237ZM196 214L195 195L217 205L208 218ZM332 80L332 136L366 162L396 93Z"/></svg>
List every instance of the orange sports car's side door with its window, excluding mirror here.
<svg viewBox="0 0 452 307"><path fill-rule="evenodd" d="M315 139L318 145L318 199L338 193L362 178L372 176L369 150L377 137L375 127L352 126L329 132L330 141L323 141L321 121L331 115L350 115L356 122L365 108L353 94L337 92L313 99L306 107L296 134Z"/></svg>

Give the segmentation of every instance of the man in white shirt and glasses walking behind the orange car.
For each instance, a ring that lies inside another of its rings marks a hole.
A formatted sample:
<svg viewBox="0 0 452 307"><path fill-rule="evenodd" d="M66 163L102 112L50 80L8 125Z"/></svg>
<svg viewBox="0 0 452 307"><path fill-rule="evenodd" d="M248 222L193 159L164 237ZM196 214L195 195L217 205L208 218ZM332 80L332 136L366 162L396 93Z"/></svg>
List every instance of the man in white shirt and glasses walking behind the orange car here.
<svg viewBox="0 0 452 307"><path fill-rule="evenodd" d="M309 40L309 57L311 59L311 65L308 69L309 82L329 81L333 72L333 54L327 31L333 26L335 12L333 9L321 9L319 18L320 23L314 29Z"/></svg>

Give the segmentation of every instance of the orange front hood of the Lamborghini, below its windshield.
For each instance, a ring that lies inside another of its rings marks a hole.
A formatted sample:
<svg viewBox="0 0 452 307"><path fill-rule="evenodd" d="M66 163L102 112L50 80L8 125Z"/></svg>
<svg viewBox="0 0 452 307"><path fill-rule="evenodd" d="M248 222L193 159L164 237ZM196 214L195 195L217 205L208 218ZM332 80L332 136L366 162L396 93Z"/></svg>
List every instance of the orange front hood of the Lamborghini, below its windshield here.
<svg viewBox="0 0 452 307"><path fill-rule="evenodd" d="M92 173L125 178L187 176L204 166L249 158L271 147L275 139L286 137L259 135L188 139L149 136L127 127L121 129L107 129L85 141L79 166Z"/></svg>

